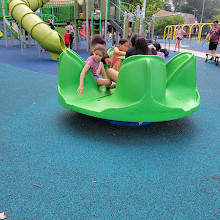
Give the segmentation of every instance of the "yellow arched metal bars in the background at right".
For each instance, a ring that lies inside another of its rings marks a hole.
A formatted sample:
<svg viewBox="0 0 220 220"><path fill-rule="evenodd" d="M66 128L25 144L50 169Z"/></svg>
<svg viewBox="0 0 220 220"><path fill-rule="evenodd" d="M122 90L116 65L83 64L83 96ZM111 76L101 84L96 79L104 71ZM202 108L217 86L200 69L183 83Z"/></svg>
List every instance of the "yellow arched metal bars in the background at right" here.
<svg viewBox="0 0 220 220"><path fill-rule="evenodd" d="M188 31L188 43L190 42L191 40L191 36L192 36L192 30L193 28L195 28L197 31L197 43L200 44L201 42L201 37L202 37L202 29L205 27L205 26L209 26L210 28L212 27L212 23L196 23L196 24L182 24L181 27L184 29L184 27L188 27L189 28L189 31ZM177 29L179 25L167 25L165 28L164 28L164 36L163 36L163 39L167 38L167 39L173 39L175 40L175 35L176 35L176 32L175 30Z"/></svg>

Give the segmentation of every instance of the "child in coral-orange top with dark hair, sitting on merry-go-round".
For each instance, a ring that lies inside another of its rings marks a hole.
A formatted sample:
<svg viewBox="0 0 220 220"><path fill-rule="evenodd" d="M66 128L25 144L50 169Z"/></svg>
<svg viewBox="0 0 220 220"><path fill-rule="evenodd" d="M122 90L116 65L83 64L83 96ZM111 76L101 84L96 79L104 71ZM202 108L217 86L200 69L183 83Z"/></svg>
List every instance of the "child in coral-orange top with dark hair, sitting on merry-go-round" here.
<svg viewBox="0 0 220 220"><path fill-rule="evenodd" d="M111 67L113 67L115 70L119 71L122 63L122 60L117 59L117 57L125 56L129 46L130 42L126 38L121 38L119 40L119 46L114 48Z"/></svg>

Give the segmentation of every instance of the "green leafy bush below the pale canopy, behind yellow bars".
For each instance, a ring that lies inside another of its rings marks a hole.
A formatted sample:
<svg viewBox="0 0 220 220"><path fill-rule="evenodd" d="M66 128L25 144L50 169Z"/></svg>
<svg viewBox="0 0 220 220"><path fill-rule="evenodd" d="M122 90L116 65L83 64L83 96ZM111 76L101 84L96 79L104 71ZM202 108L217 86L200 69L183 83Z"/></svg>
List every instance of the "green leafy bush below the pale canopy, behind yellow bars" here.
<svg viewBox="0 0 220 220"><path fill-rule="evenodd" d="M170 17L166 17L163 19L158 19L156 20L156 27L155 27L155 31L158 34L162 34L164 31L164 28L167 25L176 25L176 24L183 24L184 23L184 18L182 16L176 15L176 16L170 16Z"/></svg>

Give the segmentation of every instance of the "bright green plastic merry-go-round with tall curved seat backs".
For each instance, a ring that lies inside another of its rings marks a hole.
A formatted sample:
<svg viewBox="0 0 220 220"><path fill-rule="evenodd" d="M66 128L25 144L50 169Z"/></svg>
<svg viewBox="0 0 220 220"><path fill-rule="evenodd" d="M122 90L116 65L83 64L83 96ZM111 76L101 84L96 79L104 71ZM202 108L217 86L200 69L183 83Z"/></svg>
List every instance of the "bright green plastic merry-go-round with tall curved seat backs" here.
<svg viewBox="0 0 220 220"><path fill-rule="evenodd" d="M109 120L158 122L188 116L199 108L196 60L191 53L181 53L167 64L159 56L125 59L113 94L100 90L90 71L85 76L85 92L78 94L84 65L73 51L61 54L58 99L68 109Z"/></svg>

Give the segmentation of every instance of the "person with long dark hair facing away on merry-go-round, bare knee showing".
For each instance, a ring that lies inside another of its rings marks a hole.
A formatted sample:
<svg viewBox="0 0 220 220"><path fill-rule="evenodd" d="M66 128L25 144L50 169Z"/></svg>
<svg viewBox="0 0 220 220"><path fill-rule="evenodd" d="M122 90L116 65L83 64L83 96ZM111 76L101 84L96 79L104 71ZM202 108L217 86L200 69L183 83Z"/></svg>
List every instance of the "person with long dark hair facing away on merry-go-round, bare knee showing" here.
<svg viewBox="0 0 220 220"><path fill-rule="evenodd" d="M147 40L144 37L137 37L135 40L134 49L136 54L134 55L152 55L150 49L148 48ZM110 68L107 70L108 77L117 83L119 71Z"/></svg>

